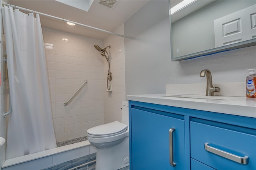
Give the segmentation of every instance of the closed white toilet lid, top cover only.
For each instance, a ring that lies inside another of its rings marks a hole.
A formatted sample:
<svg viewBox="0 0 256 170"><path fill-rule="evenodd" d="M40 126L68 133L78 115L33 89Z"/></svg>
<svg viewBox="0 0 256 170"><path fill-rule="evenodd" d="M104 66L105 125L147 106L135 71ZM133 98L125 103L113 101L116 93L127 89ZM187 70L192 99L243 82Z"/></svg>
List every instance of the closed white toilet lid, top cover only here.
<svg viewBox="0 0 256 170"><path fill-rule="evenodd" d="M99 125L96 127L89 128L87 130L87 133L101 136L101 135L115 134L125 129L128 129L127 125L124 125L123 123L115 121L111 123L106 123L104 125Z"/></svg>

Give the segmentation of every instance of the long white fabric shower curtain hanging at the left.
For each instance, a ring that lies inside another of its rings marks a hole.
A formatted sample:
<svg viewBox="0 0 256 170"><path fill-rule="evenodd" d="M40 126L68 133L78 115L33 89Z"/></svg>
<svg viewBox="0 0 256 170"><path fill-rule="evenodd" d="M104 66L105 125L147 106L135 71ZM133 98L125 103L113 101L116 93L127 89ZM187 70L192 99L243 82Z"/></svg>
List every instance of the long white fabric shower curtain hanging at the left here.
<svg viewBox="0 0 256 170"><path fill-rule="evenodd" d="M39 15L2 8L12 113L6 159L56 147Z"/></svg>

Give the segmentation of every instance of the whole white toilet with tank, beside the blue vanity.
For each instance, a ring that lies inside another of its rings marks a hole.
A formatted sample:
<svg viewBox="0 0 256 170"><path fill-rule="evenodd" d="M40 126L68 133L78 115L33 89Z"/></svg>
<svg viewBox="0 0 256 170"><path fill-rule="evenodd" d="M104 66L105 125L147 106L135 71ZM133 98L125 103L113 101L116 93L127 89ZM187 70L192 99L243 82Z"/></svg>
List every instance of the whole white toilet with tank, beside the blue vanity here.
<svg viewBox="0 0 256 170"><path fill-rule="evenodd" d="M122 123L115 121L87 130L88 141L96 147L96 170L118 170L129 165L129 109L122 102Z"/></svg>

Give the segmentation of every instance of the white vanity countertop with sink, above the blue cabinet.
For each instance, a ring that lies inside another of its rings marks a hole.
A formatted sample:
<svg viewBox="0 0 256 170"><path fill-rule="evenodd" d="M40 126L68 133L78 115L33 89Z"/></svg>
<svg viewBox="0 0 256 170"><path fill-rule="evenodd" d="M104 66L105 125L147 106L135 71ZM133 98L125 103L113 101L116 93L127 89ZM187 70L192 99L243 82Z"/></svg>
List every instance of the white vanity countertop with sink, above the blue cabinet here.
<svg viewBox="0 0 256 170"><path fill-rule="evenodd" d="M172 95L179 94L128 95L127 99L131 101L256 118L256 98L229 96L206 97L204 95L191 95L192 97L198 98L166 97ZM189 95L186 95L186 97L189 97ZM208 99L200 99L204 97Z"/></svg>

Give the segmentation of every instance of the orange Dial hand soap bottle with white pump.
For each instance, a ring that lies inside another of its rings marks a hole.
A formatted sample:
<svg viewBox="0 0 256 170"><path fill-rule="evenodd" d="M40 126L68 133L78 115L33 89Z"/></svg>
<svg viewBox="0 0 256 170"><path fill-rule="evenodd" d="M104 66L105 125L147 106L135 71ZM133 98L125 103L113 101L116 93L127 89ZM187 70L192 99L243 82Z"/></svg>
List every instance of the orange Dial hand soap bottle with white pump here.
<svg viewBox="0 0 256 170"><path fill-rule="evenodd" d="M249 75L246 77L246 97L256 98L256 73L254 69L248 69Z"/></svg>

